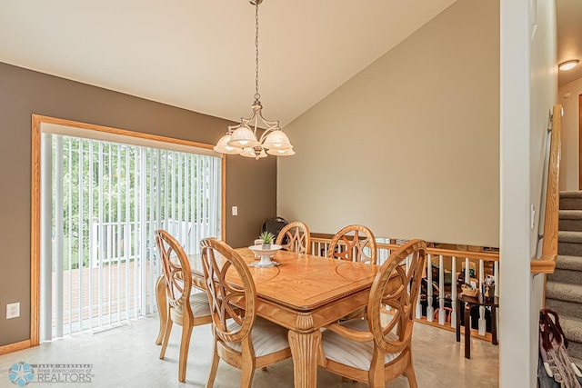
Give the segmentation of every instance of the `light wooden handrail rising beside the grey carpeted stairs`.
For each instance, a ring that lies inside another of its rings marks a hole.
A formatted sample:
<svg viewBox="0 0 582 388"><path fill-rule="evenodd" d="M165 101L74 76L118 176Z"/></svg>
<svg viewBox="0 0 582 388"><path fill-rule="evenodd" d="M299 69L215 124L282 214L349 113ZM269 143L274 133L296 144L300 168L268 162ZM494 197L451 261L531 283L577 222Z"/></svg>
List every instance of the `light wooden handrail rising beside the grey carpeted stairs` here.
<svg viewBox="0 0 582 388"><path fill-rule="evenodd" d="M532 274L553 274L557 260L557 229L559 211L559 175L562 148L562 105L554 105L552 112L552 136L547 163L546 207L542 254L530 264Z"/></svg>

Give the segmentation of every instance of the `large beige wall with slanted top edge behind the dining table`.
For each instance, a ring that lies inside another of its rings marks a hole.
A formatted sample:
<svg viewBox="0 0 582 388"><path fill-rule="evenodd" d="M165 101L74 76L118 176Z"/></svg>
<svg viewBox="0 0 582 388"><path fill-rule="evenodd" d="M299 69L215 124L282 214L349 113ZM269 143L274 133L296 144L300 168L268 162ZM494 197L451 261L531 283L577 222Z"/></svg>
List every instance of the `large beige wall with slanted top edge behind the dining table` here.
<svg viewBox="0 0 582 388"><path fill-rule="evenodd" d="M287 125L277 213L498 246L498 131L498 2L459 0Z"/></svg>

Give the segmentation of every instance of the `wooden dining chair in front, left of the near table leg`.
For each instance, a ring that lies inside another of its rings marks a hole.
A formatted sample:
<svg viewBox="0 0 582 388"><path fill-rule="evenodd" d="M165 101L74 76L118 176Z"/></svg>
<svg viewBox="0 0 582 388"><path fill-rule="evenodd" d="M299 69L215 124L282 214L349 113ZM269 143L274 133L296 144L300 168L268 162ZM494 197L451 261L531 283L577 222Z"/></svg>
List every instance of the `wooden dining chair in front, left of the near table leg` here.
<svg viewBox="0 0 582 388"><path fill-rule="evenodd" d="M215 339L206 388L220 359L241 370L241 388L250 387L256 368L291 357L287 330L256 316L255 283L239 254L215 238L200 246Z"/></svg>

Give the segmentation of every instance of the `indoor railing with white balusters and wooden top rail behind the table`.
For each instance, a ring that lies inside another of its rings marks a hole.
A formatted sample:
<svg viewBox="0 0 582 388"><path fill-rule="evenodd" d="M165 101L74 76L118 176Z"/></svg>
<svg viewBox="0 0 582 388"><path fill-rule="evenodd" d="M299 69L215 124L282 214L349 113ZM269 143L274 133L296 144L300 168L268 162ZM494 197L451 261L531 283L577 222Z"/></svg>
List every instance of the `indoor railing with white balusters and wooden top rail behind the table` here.
<svg viewBox="0 0 582 388"><path fill-rule="evenodd" d="M377 239L384 241L384 239ZM311 253L326 256L331 238L311 237ZM396 241L396 243L404 243ZM376 243L377 263L383 264L399 244ZM452 249L427 248L426 250L426 313L418 298L416 319L441 326L457 327L457 294L460 284L476 284L479 289L487 275L499 275L499 254L497 252L471 252ZM469 268L468 271L465 269ZM427 284L433 284L429 287ZM495 287L495 295L499 296ZM434 301L437 301L435 306ZM448 303L447 303L448 302ZM449 305L447 305L449 304ZM479 308L478 333L486 335L486 308Z"/></svg>

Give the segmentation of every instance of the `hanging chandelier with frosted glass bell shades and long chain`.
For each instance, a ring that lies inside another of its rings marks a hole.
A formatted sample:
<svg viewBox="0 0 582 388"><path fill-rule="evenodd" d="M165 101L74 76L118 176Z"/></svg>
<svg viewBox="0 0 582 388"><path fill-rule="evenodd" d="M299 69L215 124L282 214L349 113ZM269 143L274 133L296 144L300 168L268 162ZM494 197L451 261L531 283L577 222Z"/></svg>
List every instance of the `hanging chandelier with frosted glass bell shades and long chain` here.
<svg viewBox="0 0 582 388"><path fill-rule="evenodd" d="M228 131L218 140L214 150L221 154L240 154L254 157L256 160L266 154L289 156L295 154L293 145L281 130L279 121L266 120L263 117L261 95L258 93L258 5L263 0L249 0L255 5L255 102L253 114L249 118L241 117L240 124L229 125ZM256 137L257 128L265 128L260 137Z"/></svg>

